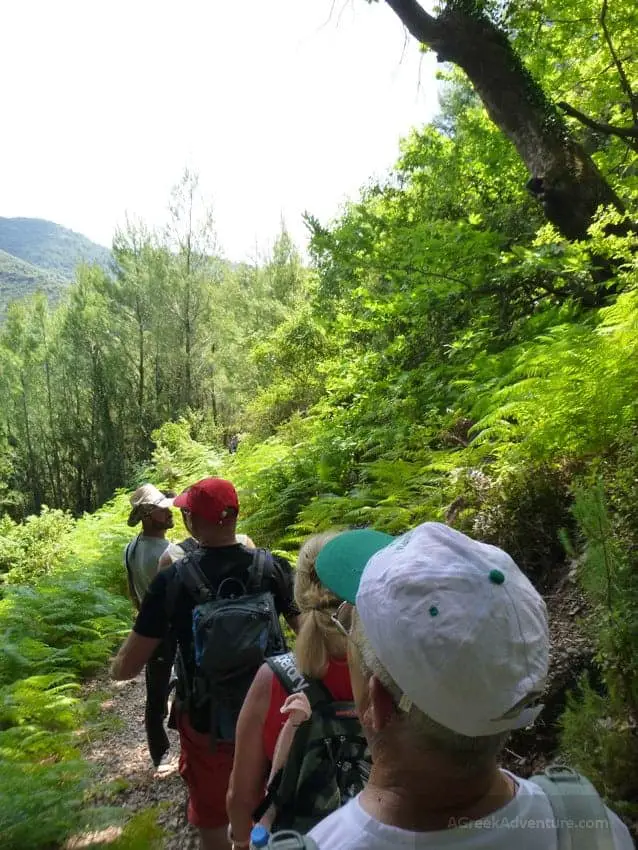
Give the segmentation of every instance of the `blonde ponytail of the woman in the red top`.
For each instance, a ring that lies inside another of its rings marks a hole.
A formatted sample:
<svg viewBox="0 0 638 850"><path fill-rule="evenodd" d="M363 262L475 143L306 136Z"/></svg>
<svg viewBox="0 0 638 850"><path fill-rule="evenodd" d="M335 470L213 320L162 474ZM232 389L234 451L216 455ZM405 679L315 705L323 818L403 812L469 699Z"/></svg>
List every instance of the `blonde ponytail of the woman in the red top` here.
<svg viewBox="0 0 638 850"><path fill-rule="evenodd" d="M315 570L317 555L337 532L315 534L301 547L295 573L295 602L301 611L301 628L295 644L299 669L306 676L321 679L331 658L346 654L346 639L330 619L341 604L324 587Z"/></svg>

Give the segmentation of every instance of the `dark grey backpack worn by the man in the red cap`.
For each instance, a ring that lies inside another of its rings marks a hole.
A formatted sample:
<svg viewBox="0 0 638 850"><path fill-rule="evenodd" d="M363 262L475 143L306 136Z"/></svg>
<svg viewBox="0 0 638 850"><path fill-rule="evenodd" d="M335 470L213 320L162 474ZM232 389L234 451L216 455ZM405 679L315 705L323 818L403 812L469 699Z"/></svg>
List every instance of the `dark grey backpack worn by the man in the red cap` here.
<svg viewBox="0 0 638 850"><path fill-rule="evenodd" d="M255 549L247 585L229 577L217 592L193 555L176 564L178 583L196 602L195 670L190 689L184 682L186 708L198 717L208 714L213 739L235 739L237 717L255 674L268 656L286 651L275 600L263 590L271 557L264 549Z"/></svg>

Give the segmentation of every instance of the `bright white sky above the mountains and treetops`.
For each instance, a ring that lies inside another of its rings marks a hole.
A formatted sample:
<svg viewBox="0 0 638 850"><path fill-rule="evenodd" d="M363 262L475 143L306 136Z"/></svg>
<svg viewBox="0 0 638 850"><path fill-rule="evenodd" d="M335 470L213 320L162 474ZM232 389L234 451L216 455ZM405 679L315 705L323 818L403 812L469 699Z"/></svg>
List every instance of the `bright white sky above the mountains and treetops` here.
<svg viewBox="0 0 638 850"><path fill-rule="evenodd" d="M233 260L322 221L437 107L435 60L383 2L5 0L0 215L109 245L199 172Z"/></svg>

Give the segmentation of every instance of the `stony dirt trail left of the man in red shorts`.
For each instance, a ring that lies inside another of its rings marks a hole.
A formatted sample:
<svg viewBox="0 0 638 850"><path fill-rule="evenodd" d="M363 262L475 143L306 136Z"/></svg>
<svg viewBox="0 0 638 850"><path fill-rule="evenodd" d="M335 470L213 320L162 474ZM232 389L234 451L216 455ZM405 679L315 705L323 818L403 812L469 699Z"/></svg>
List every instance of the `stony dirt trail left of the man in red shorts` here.
<svg viewBox="0 0 638 850"><path fill-rule="evenodd" d="M106 694L102 710L115 716L113 728L100 733L88 744L85 758L96 767L97 805L122 806L139 812L158 804L158 823L166 832L164 850L195 850L196 832L186 822L186 787L178 770L179 739L171 739L171 764L163 776L156 776L146 749L144 734L144 674L129 682L112 682L106 674L87 684L88 694ZM108 835L100 836L102 840ZM97 836L93 837L95 840ZM90 847L91 837L76 838L68 850Z"/></svg>

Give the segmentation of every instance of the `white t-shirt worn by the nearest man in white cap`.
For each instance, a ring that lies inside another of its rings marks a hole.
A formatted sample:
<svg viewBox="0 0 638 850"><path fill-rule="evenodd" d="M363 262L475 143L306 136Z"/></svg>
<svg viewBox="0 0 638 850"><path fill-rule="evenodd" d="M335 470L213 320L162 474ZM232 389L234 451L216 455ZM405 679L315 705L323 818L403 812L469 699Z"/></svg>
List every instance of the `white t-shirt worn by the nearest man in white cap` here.
<svg viewBox="0 0 638 850"><path fill-rule="evenodd" d="M510 774L511 775L511 774ZM557 850L552 807L534 782L515 777L516 797L479 821L437 832L409 832L370 817L355 798L310 835L319 850ZM629 830L607 810L615 850L634 850Z"/></svg>

